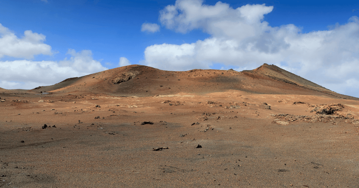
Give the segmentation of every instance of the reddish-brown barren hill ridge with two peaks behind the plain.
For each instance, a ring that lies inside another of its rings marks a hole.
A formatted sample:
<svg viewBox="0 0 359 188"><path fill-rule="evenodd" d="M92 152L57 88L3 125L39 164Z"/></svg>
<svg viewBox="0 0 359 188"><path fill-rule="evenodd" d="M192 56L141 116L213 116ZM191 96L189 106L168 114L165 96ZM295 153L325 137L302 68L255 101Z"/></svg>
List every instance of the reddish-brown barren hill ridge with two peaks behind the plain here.
<svg viewBox="0 0 359 188"><path fill-rule="evenodd" d="M258 94L324 95L358 100L355 97L332 92L307 79L268 64L242 72L213 69L163 71L142 65L130 65L83 77L68 78L55 85L42 86L31 91L153 96L180 92L204 94L230 90Z"/></svg>

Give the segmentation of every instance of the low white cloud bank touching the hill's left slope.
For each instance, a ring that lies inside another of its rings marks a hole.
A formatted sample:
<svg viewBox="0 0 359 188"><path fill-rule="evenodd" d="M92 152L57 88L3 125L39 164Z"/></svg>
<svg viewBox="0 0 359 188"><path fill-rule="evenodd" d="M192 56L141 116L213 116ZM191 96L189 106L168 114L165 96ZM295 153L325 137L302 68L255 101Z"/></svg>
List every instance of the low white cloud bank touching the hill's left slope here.
<svg viewBox="0 0 359 188"><path fill-rule="evenodd" d="M32 89L59 83L66 78L80 77L107 70L92 58L90 50L76 52L69 49L70 59L63 61L0 61L0 87L5 89Z"/></svg>

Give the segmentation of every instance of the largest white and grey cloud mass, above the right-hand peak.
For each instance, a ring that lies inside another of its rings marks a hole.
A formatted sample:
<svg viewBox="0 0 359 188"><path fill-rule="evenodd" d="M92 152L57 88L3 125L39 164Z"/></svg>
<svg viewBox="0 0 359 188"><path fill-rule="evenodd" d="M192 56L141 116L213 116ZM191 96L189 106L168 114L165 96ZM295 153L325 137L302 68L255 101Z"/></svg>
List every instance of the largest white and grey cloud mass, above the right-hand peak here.
<svg viewBox="0 0 359 188"><path fill-rule="evenodd" d="M151 45L145 49L144 62L178 71L214 63L237 69L275 64L333 91L359 97L359 69L353 68L359 67L358 17L329 30L302 33L293 24L270 26L263 19L272 10L265 4L233 9L222 2L209 6L200 0L177 0L160 11L161 23L183 34L202 29L210 37L191 44Z"/></svg>

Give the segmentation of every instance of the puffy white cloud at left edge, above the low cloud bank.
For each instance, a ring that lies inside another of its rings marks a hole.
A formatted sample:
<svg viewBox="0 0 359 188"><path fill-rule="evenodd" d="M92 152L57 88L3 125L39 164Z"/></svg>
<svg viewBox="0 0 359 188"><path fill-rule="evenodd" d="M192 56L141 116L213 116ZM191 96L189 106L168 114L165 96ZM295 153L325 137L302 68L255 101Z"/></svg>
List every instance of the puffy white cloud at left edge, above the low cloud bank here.
<svg viewBox="0 0 359 188"><path fill-rule="evenodd" d="M32 59L34 55L52 55L51 46L44 44L45 35L33 33L31 30L24 32L22 38L18 38L8 28L0 24L0 58L4 56Z"/></svg>

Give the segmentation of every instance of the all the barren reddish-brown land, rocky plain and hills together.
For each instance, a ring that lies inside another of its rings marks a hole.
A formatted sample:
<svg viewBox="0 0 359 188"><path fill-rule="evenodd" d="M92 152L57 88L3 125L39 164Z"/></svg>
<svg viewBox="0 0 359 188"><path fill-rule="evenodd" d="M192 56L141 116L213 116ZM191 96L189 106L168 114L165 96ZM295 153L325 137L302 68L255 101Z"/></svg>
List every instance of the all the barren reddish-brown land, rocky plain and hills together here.
<svg viewBox="0 0 359 188"><path fill-rule="evenodd" d="M357 98L262 66L126 68L153 69L1 89L0 187L359 187Z"/></svg>

